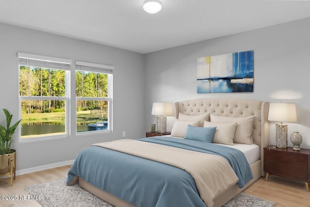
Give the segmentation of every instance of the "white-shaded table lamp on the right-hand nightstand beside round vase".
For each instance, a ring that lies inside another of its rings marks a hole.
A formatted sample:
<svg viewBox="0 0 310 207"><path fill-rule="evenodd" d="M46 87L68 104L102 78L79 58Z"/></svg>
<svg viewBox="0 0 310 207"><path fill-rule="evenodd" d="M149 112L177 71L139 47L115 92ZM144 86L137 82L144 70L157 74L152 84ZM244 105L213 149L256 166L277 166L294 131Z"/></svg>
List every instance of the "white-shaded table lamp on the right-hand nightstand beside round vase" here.
<svg viewBox="0 0 310 207"><path fill-rule="evenodd" d="M280 121L276 124L276 146L277 148L287 148L287 125L283 122L296 122L296 106L294 103L270 103L269 121Z"/></svg>

